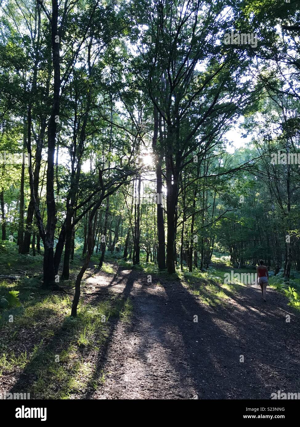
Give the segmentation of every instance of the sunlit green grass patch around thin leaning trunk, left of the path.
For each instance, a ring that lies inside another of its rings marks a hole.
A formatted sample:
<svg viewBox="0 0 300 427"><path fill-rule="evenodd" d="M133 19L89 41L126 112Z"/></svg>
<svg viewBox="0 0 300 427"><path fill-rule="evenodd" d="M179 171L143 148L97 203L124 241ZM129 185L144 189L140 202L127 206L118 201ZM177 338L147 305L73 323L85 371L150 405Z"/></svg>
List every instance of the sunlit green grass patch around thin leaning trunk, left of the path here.
<svg viewBox="0 0 300 427"><path fill-rule="evenodd" d="M30 398L68 399L97 389L105 381L97 355L110 335L111 319L131 322L130 299L116 296L90 305L82 298L76 318L70 317L69 296L36 293L20 304L23 311L12 322L10 309L1 322L0 378L17 378L12 392L25 388Z"/></svg>

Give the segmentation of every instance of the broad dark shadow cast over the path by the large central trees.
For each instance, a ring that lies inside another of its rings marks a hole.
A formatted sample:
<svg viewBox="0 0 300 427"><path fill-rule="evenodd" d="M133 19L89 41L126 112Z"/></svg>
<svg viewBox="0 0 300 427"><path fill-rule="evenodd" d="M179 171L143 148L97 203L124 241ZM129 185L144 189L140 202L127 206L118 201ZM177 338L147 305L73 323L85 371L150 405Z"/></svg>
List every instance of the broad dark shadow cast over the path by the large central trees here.
<svg viewBox="0 0 300 427"><path fill-rule="evenodd" d="M263 371L266 354L269 357L276 354L277 359L279 356L278 335L277 331L274 333L272 319L261 320L261 312L251 310L250 305L243 310L229 307L229 304L205 306L177 281L166 284L164 290L164 297L149 294L145 280L139 293L139 298L147 299L145 307L141 305L142 316L147 316L150 330L160 332L155 334L155 339L172 349L169 363L183 380L186 375L182 376L182 361L178 362L178 357L184 357L199 397L266 398L274 388L277 390L277 380L281 380L282 386L291 380L289 386L295 389L296 378L290 378L288 371L281 373L280 378L277 376L273 383ZM160 312L156 307L162 304L168 304L168 309ZM153 309L149 310L149 307ZM198 322L194 322L194 316L198 316ZM285 331L291 342L296 328L286 328L283 320L279 320L282 322L279 323L280 330ZM268 334L272 330L273 336L270 337ZM288 349L282 347L280 350L279 358L287 360ZM145 354L144 360L146 357ZM299 367L298 363L299 358L293 366Z"/></svg>

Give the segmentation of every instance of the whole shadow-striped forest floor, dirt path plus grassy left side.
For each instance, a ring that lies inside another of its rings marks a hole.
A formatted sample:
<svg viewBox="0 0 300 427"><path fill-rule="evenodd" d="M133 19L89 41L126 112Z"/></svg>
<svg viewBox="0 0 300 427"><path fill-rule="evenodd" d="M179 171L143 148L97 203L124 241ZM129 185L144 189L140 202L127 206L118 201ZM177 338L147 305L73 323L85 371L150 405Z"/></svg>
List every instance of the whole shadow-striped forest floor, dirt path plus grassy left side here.
<svg viewBox="0 0 300 427"><path fill-rule="evenodd" d="M90 339L93 320L82 317L72 341L65 297L59 311L57 301L40 303L27 313L31 323L19 320L15 331L6 325L2 343L10 340L14 351L2 358L0 391L77 399L270 399L278 390L300 392L300 312L284 295L267 289L264 303L257 285L160 274L148 283L143 271L109 264L110 272L91 264L85 275L85 306L108 313ZM60 363L53 363L56 353Z"/></svg>

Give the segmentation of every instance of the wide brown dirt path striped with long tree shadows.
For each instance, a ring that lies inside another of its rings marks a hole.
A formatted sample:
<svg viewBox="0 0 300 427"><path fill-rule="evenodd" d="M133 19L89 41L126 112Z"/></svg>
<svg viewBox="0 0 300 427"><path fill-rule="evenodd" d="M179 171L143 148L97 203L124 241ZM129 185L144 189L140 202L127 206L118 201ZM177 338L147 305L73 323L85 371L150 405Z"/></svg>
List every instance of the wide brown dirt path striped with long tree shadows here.
<svg viewBox="0 0 300 427"><path fill-rule="evenodd" d="M109 319L96 369L105 382L87 398L270 399L278 390L300 392L300 315L283 295L267 290L264 303L260 289L248 285L211 307L180 281L149 284L143 272L113 266L114 276L89 270L93 289L85 300L129 298L132 317L128 324Z"/></svg>

